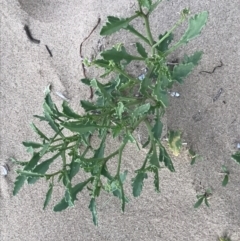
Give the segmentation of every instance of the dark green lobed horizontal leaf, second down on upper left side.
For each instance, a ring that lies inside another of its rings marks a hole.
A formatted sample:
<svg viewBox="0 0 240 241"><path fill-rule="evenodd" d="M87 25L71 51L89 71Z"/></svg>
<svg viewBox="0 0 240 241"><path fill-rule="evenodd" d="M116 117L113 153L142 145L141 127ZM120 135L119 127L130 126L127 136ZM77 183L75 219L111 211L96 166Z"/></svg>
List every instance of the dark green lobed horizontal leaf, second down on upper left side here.
<svg viewBox="0 0 240 241"><path fill-rule="evenodd" d="M120 49L116 49L115 47L113 47L109 50L106 50L101 53L101 56L105 60L112 60L117 64L119 64L122 60L125 60L126 63L129 64L132 60L138 59L137 57L128 54L123 46L121 46Z"/></svg>

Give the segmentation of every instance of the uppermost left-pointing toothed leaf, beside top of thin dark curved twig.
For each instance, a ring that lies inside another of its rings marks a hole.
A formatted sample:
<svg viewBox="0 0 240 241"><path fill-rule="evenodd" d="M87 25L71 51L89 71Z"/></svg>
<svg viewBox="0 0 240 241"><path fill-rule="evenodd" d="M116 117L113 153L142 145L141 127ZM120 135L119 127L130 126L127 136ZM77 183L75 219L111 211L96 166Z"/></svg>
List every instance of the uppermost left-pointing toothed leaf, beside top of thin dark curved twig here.
<svg viewBox="0 0 240 241"><path fill-rule="evenodd" d="M119 31L122 28L126 28L128 24L134 19L136 16L133 16L131 18L125 18L125 19L119 19L117 17L108 16L108 22L100 31L100 35L110 35L117 31Z"/></svg>

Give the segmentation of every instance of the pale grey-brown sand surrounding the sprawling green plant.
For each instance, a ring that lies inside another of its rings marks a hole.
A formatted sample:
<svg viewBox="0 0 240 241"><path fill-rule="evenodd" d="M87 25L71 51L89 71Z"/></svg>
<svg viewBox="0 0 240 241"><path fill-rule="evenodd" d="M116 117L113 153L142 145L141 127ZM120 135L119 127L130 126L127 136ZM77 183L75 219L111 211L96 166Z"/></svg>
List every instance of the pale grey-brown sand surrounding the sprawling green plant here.
<svg viewBox="0 0 240 241"><path fill-rule="evenodd" d="M88 241L88 240L159 240L159 241L212 241L228 233L233 241L240 240L240 166L230 159L240 142L240 4L232 1L164 1L152 16L154 37L169 29L178 18L178 12L190 7L193 13L209 11L209 21L201 37L176 51L173 57L203 50L200 65L181 86L180 93L170 98L167 126L181 129L184 141L203 156L196 165L189 165L187 151L174 158L176 173L160 173L161 193L156 194L152 177L145 185L141 197L127 204L124 214L120 202L103 196L98 201L99 226L94 227L88 210L89 196L79 195L73 209L54 213L52 207L62 195L54 197L46 211L42 210L47 191L45 181L24 186L13 197L12 189L16 166L10 157L27 160L21 142L37 140L29 127L33 114L42 113L44 89L51 83L53 99L61 92L70 99L72 108L82 112L81 99L89 98L89 89L79 82L83 78L79 45L101 17L101 26L108 15L130 16L134 0L1 0L1 128L0 164L8 163L10 172L0 176L0 240L2 241ZM40 44L29 41L24 31L27 24ZM141 28L142 24L138 23ZM84 45L84 55L90 57L98 40L106 48L117 42L130 44L135 38L125 33L99 37L100 27ZM179 37L183 32L176 32ZM49 47L50 57L45 45ZM129 45L131 48L131 45ZM199 73L212 70L223 62L213 74ZM93 77L95 72L89 71ZM219 89L223 92L213 102ZM199 114L200 111L200 114ZM193 118L193 117L198 118ZM108 150L114 149L113 144ZM130 174L139 166L144 153L129 146L124 163ZM221 187L221 165L230 170L227 187ZM131 192L131 177L127 178L127 192ZM211 207L194 210L196 195L211 187ZM131 194L131 193L130 193Z"/></svg>

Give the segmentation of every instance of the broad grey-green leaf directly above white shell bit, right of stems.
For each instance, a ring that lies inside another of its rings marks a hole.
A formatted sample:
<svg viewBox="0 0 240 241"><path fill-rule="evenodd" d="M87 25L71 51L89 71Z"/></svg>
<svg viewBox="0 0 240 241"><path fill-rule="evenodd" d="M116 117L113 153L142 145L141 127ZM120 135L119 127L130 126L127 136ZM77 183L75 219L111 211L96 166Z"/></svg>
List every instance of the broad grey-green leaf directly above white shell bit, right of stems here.
<svg viewBox="0 0 240 241"><path fill-rule="evenodd" d="M193 63L175 65L173 68L172 78L179 83L183 83L183 79L186 78L193 69Z"/></svg>

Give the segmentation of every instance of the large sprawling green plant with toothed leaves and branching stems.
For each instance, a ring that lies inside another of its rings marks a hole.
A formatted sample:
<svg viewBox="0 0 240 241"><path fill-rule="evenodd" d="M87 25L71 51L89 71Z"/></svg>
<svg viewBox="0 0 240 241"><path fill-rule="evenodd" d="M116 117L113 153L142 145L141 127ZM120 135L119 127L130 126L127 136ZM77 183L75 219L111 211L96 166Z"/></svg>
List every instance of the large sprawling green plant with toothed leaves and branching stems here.
<svg viewBox="0 0 240 241"><path fill-rule="evenodd" d="M161 0L154 3L151 0L139 0L139 9L133 16L124 19L108 17L108 22L100 32L101 35L110 35L122 29L134 34L144 45L136 42L137 55L129 54L123 44L116 44L113 48L102 52L100 59L93 61L84 59L85 66L103 68L105 73L101 78L107 80L107 83L106 81L101 83L97 79L81 80L94 89L97 97L94 102L81 101L85 114L74 112L66 101L62 104L62 111L59 111L52 102L50 90L46 90L44 115L35 117L47 122L54 134L49 137L34 124L31 125L42 142L23 142L23 145L32 153L32 157L27 162L15 160L23 167L17 170L14 195L26 181L28 184L34 184L40 178L45 178L49 182L49 190L44 209L51 199L54 185L62 182L66 189L65 195L55 205L54 211L62 211L74 206L78 193L84 188L90 193L89 209L92 212L94 224L97 224L96 199L101 191L112 193L120 198L122 211L124 211L128 199L124 193L123 184L127 171L121 170L122 154L129 142L135 143L140 149L134 131L141 123L145 124L148 131L148 140L142 146L142 148L147 147L148 152L142 165L135 170L136 175L132 179L133 196L138 197L141 194L144 179L148 177L148 173L154 174L155 190L159 192L159 170L166 167L171 172L175 171L167 149L160 141L163 128L161 119L168 106L168 89L174 83L183 83L184 78L200 61L202 52L195 52L190 56L184 55L182 61L175 64L171 63L168 56L200 35L208 13L204 11L190 17L187 30L180 40L173 43L173 31L186 21L190 14L189 9L184 9L172 28L154 40L149 16L160 2ZM137 18L144 21L146 36L130 24ZM141 79L131 75L126 69L132 61L140 61L146 66L147 73ZM110 73L111 76L115 74L113 78L109 77ZM181 132L169 131L168 135L169 147L177 156L181 148ZM119 136L122 137L119 148L106 155L107 141ZM94 144L96 140L98 140L97 147ZM49 156L49 154L52 156L47 158L46 155ZM117 163L114 164L116 171L110 173L109 164L114 161L114 157L117 158ZM62 159L61 169L49 173L50 165L60 158ZM87 178L73 185L72 181L80 170L86 173Z"/></svg>

